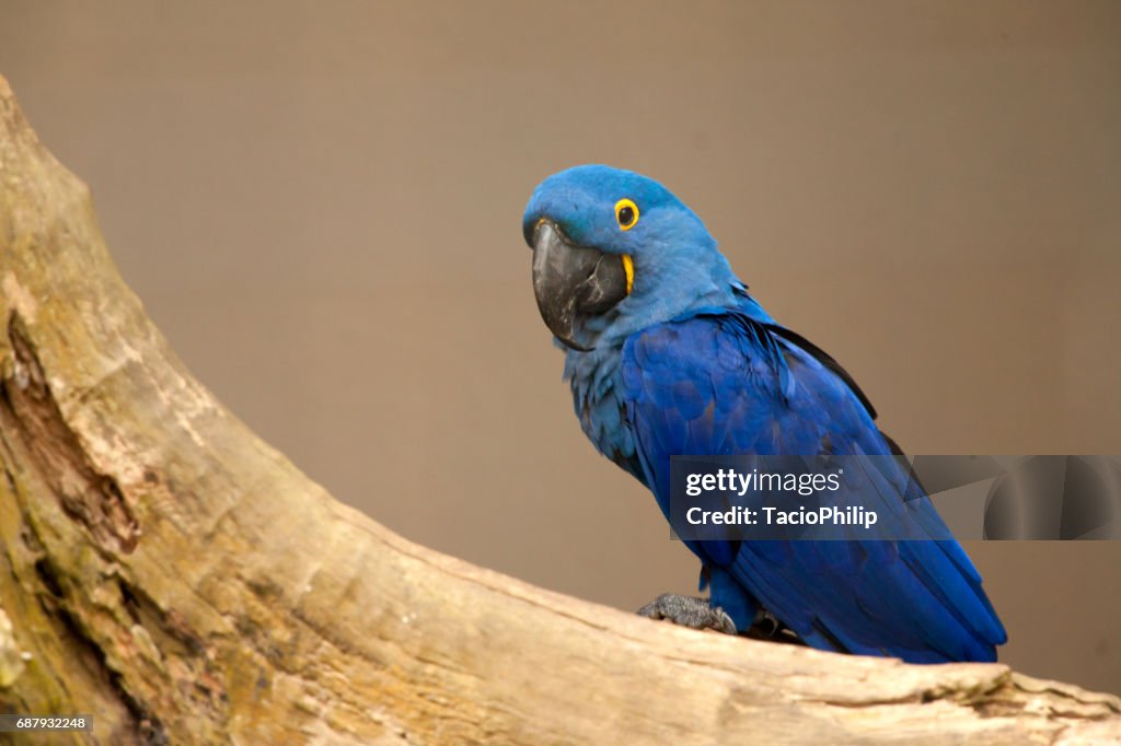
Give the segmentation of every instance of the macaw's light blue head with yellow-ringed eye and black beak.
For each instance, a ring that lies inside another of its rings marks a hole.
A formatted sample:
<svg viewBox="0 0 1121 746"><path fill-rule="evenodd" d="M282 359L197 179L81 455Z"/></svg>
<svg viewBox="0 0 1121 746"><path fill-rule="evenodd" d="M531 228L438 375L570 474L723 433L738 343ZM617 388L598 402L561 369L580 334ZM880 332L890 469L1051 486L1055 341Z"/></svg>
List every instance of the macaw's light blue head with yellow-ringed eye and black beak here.
<svg viewBox="0 0 1121 746"><path fill-rule="evenodd" d="M577 166L545 179L522 217L541 318L590 351L688 310L734 302L735 279L704 223L639 174Z"/></svg>

